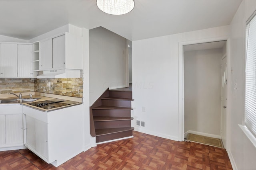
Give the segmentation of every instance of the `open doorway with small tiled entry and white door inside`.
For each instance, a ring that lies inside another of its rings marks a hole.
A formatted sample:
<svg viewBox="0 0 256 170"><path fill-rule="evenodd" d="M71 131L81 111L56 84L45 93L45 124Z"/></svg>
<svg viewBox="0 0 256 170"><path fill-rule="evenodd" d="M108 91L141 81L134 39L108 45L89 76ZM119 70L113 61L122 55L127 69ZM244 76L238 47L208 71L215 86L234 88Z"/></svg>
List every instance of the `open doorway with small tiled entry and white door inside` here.
<svg viewBox="0 0 256 170"><path fill-rule="evenodd" d="M226 41L184 45L183 72L184 139L225 147Z"/></svg>

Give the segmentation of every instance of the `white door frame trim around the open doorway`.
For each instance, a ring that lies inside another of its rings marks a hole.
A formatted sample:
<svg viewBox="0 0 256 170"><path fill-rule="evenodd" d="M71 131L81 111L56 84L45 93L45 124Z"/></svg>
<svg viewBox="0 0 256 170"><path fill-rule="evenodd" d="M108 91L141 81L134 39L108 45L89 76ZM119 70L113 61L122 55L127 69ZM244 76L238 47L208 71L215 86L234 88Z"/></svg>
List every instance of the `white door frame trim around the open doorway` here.
<svg viewBox="0 0 256 170"><path fill-rule="evenodd" d="M230 66L230 39L228 36L214 37L208 39L196 39L191 41L179 42L179 106L178 106L178 141L184 141L184 45L192 45L198 43L209 43L214 41L227 41L226 55L227 55L227 78L231 77ZM230 148L230 88L231 84L227 84L226 96L227 96L227 120L226 120L226 149Z"/></svg>

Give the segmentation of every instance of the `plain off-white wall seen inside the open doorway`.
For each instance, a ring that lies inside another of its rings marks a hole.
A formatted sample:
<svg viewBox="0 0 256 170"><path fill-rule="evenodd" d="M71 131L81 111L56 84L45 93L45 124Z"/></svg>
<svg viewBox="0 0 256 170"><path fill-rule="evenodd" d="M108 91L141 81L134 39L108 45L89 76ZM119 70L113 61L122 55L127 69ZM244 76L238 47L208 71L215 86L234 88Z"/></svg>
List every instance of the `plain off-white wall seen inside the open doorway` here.
<svg viewBox="0 0 256 170"><path fill-rule="evenodd" d="M184 52L184 132L220 136L222 49Z"/></svg>

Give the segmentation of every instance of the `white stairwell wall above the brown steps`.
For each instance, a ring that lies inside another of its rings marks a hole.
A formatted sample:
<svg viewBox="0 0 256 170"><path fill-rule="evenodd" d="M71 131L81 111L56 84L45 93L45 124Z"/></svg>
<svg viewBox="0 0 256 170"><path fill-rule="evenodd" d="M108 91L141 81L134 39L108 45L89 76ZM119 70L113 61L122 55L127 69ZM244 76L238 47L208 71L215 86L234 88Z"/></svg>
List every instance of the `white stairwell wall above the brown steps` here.
<svg viewBox="0 0 256 170"><path fill-rule="evenodd" d="M90 106L107 89L126 86L126 39L103 27L89 30Z"/></svg>

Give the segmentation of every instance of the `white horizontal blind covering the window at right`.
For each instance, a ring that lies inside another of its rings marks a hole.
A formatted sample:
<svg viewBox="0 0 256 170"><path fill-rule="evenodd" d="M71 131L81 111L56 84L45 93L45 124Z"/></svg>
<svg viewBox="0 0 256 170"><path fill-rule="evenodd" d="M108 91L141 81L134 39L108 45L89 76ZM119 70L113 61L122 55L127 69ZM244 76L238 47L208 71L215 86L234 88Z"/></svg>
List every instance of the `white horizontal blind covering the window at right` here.
<svg viewBox="0 0 256 170"><path fill-rule="evenodd" d="M256 17L246 25L246 85L244 125L256 137Z"/></svg>

